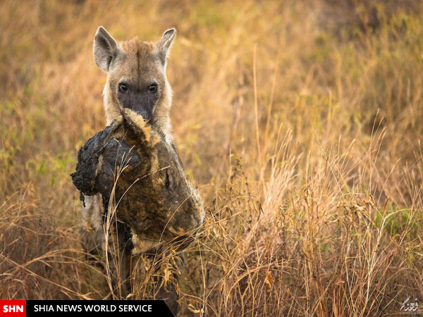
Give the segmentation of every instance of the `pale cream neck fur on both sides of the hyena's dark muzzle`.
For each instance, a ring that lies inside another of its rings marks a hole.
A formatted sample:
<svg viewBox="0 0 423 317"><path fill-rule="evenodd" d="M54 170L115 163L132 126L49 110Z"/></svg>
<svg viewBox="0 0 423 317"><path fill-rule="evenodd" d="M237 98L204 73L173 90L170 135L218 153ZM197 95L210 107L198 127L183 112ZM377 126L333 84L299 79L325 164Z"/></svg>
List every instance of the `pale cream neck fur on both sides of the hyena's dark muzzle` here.
<svg viewBox="0 0 423 317"><path fill-rule="evenodd" d="M104 95L104 113L106 114L106 123L110 125L111 122L121 116L121 111L119 110L119 105L116 99L114 99L113 94L109 88L109 82L106 82L103 90ZM171 85L166 82L166 86L157 104L157 108L154 111L154 119L157 124L166 135L168 142L173 143L172 127L171 127L171 118L170 111L172 106L172 89Z"/></svg>

